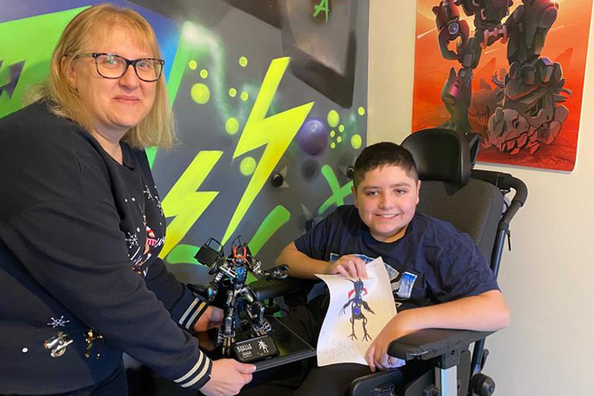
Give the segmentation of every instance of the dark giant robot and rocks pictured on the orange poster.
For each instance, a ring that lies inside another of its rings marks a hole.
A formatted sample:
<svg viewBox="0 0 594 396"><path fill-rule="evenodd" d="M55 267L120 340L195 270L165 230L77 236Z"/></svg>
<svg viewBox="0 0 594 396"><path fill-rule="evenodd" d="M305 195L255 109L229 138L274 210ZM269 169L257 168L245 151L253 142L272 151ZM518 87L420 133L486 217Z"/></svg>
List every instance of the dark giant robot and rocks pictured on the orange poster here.
<svg viewBox="0 0 594 396"><path fill-rule="evenodd" d="M433 7L443 58L462 65L450 69L441 99L450 113L446 128L479 132L484 147L517 154L534 153L551 144L569 110L563 102L571 92L557 62L541 56L546 34L557 19L559 6L551 0L442 0ZM460 8L473 17L475 33L460 19ZM493 75L472 92L473 71L481 52L501 40L507 44L509 68ZM450 43L454 45L450 46Z"/></svg>

